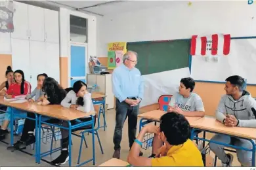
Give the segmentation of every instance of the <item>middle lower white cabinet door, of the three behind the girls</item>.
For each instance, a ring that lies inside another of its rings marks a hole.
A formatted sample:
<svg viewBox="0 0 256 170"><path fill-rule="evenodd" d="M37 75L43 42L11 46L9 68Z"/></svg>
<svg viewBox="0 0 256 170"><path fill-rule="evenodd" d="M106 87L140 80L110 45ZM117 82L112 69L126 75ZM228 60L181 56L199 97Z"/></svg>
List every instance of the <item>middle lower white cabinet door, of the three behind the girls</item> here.
<svg viewBox="0 0 256 170"><path fill-rule="evenodd" d="M37 86L37 75L47 70L47 59L45 59L45 42L30 41L30 69L32 89Z"/></svg>

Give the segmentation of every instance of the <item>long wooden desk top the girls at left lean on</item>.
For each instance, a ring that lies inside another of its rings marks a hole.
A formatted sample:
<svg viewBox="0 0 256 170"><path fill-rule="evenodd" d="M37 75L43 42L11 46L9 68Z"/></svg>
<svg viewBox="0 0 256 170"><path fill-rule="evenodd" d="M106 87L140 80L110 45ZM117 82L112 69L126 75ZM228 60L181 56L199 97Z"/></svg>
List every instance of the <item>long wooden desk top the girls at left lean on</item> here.
<svg viewBox="0 0 256 170"><path fill-rule="evenodd" d="M49 116L52 118L58 118L60 120L75 120L77 118L83 118L90 116L95 112L81 112L79 110L68 109L61 105L37 105L36 103L10 103L0 97L0 104L8 107L14 107L16 109L25 110L27 112L35 112L43 116Z"/></svg>

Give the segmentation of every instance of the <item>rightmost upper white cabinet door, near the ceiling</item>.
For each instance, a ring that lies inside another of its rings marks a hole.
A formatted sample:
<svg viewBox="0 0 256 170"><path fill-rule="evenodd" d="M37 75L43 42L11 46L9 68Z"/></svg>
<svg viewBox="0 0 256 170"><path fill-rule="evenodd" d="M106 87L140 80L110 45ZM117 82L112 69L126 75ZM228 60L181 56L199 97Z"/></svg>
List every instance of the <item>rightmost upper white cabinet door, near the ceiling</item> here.
<svg viewBox="0 0 256 170"><path fill-rule="evenodd" d="M45 41L58 43L58 12L45 9Z"/></svg>

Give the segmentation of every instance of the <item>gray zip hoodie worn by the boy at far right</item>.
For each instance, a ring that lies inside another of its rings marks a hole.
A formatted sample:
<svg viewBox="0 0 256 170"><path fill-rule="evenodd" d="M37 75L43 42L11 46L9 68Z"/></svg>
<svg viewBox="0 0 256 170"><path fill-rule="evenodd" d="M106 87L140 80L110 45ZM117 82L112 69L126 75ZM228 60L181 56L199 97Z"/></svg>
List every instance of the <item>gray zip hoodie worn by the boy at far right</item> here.
<svg viewBox="0 0 256 170"><path fill-rule="evenodd" d="M253 114L251 108L256 110L256 101L249 92L244 90L238 101L234 100L231 95L223 95L215 116L223 123L226 113L228 113L236 116L239 120L239 127L256 127L256 114Z"/></svg>

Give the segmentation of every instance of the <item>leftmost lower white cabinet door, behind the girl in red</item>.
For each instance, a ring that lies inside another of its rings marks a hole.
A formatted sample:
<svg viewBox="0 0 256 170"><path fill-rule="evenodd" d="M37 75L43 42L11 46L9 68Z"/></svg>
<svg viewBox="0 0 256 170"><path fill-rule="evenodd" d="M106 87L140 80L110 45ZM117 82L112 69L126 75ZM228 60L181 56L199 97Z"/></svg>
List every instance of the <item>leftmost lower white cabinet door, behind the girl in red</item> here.
<svg viewBox="0 0 256 170"><path fill-rule="evenodd" d="M28 40L12 39L12 69L24 72L25 80L30 82L30 44Z"/></svg>

